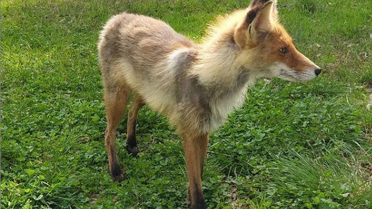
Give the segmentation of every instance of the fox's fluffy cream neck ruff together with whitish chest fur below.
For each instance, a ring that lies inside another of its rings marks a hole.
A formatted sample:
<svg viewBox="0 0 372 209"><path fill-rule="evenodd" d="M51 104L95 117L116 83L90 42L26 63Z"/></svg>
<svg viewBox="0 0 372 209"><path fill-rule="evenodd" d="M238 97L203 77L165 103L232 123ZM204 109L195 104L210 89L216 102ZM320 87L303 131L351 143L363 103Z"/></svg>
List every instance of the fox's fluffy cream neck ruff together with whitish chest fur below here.
<svg viewBox="0 0 372 209"><path fill-rule="evenodd" d="M203 86L211 110L209 131L218 128L228 114L244 102L254 76L236 62L238 48L231 40L205 42L199 48L191 74Z"/></svg>

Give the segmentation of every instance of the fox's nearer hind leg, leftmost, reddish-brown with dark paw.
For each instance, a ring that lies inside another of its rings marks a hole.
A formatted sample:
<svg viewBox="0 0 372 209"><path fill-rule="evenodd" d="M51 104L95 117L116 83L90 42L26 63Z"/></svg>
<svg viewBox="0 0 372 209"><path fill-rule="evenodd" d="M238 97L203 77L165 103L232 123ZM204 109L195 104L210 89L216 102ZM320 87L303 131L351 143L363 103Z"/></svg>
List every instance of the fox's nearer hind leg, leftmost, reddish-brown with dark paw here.
<svg viewBox="0 0 372 209"><path fill-rule="evenodd" d="M104 93L107 119L105 144L109 160L109 170L113 181L122 181L124 179L124 169L122 170L120 168L115 142L116 128L124 115L129 94L130 89L126 84L111 88L106 87Z"/></svg>

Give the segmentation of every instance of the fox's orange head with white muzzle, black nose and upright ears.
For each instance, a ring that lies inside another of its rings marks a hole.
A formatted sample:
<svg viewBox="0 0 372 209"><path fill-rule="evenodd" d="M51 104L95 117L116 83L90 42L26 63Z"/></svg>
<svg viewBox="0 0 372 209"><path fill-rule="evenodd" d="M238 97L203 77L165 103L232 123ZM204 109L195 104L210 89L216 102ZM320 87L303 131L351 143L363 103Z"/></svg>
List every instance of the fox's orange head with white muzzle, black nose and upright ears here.
<svg viewBox="0 0 372 209"><path fill-rule="evenodd" d="M311 80L321 68L295 48L277 14L276 0L253 0L234 30L238 62L244 68L254 68L259 77Z"/></svg>

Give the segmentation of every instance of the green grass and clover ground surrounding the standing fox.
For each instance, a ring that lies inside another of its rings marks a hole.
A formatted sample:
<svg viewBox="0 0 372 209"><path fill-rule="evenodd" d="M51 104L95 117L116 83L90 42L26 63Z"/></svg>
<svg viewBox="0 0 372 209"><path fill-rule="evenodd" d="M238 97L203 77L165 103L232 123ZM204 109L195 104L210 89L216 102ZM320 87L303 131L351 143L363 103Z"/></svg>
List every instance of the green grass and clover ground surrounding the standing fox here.
<svg viewBox="0 0 372 209"><path fill-rule="evenodd" d="M1 208L186 208L182 141L144 107L140 154L117 146L112 183L96 42L121 11L200 40L246 0L1 1ZM263 80L211 134L208 208L372 208L372 1L280 0L296 47L320 65L305 84ZM126 117L124 118L124 120Z"/></svg>

